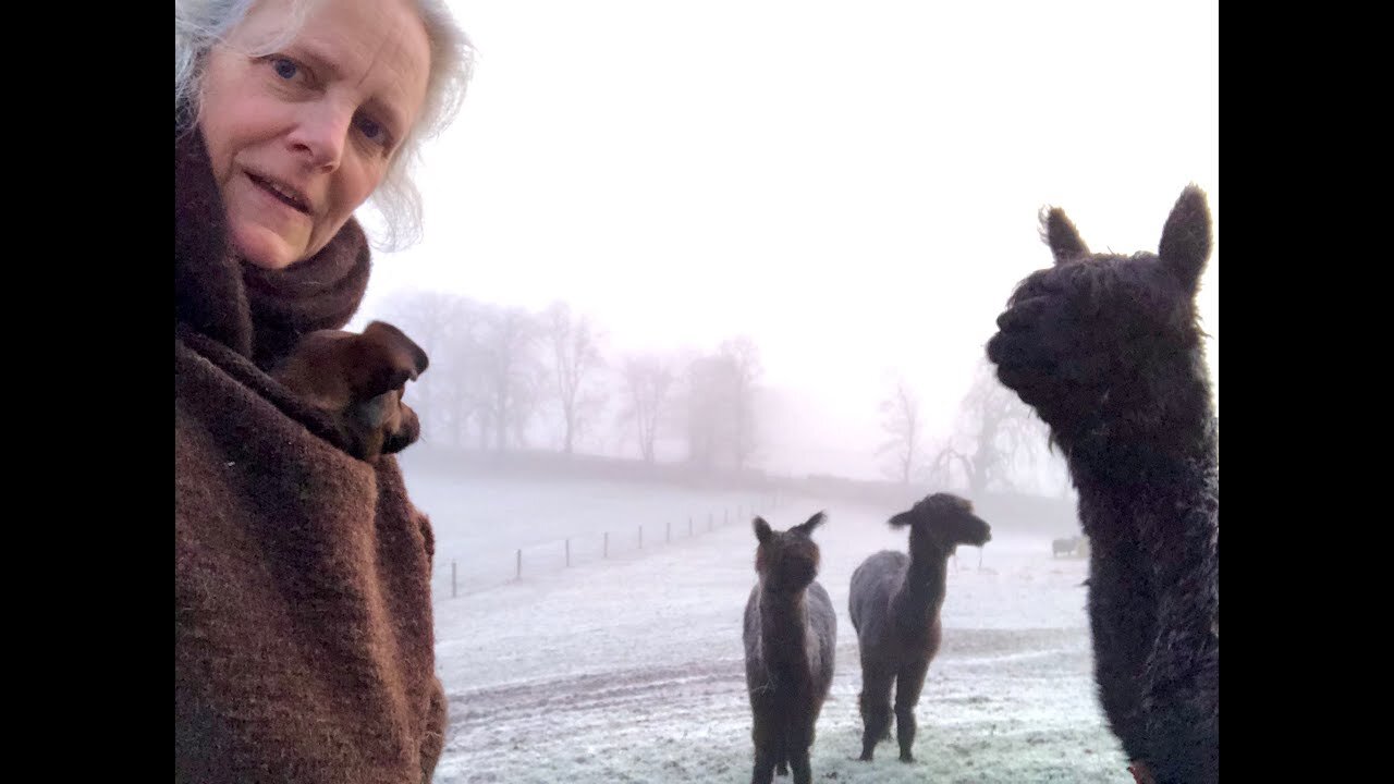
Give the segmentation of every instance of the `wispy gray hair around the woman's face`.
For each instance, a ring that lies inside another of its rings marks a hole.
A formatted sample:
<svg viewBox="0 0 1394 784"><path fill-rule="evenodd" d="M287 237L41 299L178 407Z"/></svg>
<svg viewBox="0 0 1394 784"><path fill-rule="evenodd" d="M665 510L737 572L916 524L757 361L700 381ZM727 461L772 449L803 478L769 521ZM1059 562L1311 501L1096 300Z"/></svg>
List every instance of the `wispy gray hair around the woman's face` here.
<svg viewBox="0 0 1394 784"><path fill-rule="evenodd" d="M174 117L176 126L195 124L199 112L204 66L208 53L237 29L259 0L174 0ZM291 15L273 39L255 42L251 54L270 54L300 32L309 8L323 0L290 0ZM329 0L333 1L333 0ZM421 142L450 126L460 110L464 91L474 74L474 46L456 24L445 0L414 0L431 45L431 73L421 117L388 166L372 194L372 205L383 218L386 237L376 246L386 250L407 247L421 237L421 194L411 181Z"/></svg>

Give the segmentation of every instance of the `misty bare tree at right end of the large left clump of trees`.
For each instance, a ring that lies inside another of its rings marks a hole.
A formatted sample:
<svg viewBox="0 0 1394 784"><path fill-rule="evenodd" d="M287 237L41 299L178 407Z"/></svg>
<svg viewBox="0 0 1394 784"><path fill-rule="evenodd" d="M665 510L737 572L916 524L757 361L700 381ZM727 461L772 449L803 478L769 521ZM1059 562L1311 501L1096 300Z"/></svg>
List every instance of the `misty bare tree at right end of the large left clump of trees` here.
<svg viewBox="0 0 1394 784"><path fill-rule="evenodd" d="M551 359L552 393L562 414L562 451L570 455L591 417L604 405L595 372L605 365L599 335L585 315L572 317L566 303L552 303L544 314Z"/></svg>

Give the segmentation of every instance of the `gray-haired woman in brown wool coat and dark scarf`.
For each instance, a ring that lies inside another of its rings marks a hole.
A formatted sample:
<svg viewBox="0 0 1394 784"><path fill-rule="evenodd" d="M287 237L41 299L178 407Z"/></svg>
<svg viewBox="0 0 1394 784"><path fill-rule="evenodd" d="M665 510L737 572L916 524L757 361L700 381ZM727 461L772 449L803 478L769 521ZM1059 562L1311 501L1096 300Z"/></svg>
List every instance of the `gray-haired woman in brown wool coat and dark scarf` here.
<svg viewBox="0 0 1394 784"><path fill-rule="evenodd" d="M429 522L266 375L414 227L471 49L439 0L174 7L176 781L429 781Z"/></svg>

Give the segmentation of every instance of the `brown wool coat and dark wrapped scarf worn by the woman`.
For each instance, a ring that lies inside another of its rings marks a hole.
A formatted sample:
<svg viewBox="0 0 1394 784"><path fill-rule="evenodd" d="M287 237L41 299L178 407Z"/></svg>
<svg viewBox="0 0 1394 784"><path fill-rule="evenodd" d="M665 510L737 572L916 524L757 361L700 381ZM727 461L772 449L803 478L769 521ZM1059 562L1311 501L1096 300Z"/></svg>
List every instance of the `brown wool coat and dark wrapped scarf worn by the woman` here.
<svg viewBox="0 0 1394 784"><path fill-rule="evenodd" d="M174 780L429 781L431 523L393 458L351 458L261 370L353 315L362 232L282 272L230 258L197 133L174 194Z"/></svg>

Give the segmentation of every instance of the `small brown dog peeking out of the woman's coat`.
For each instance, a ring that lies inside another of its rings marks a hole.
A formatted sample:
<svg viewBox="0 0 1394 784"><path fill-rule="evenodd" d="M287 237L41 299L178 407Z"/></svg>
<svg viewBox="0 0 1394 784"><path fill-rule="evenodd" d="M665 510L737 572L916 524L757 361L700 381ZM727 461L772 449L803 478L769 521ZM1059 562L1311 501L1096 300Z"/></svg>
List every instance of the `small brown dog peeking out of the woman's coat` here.
<svg viewBox="0 0 1394 784"><path fill-rule="evenodd" d="M300 339L272 378L330 414L348 451L362 460L400 452L421 437L401 402L407 381L427 370L427 353L396 326L374 321L362 335L321 329Z"/></svg>

